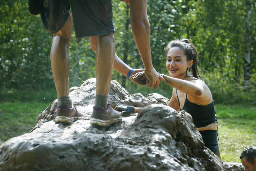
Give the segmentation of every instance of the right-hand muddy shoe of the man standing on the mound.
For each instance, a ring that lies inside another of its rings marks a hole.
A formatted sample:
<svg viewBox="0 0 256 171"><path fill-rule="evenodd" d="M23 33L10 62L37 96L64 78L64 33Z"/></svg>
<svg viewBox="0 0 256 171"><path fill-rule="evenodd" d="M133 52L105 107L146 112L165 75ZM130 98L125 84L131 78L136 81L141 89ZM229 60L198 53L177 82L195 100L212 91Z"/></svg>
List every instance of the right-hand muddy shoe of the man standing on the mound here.
<svg viewBox="0 0 256 171"><path fill-rule="evenodd" d="M107 110L102 107L93 107L93 114L91 116L90 124L98 126L108 126L121 120L121 113L111 108L110 104L108 104Z"/></svg>

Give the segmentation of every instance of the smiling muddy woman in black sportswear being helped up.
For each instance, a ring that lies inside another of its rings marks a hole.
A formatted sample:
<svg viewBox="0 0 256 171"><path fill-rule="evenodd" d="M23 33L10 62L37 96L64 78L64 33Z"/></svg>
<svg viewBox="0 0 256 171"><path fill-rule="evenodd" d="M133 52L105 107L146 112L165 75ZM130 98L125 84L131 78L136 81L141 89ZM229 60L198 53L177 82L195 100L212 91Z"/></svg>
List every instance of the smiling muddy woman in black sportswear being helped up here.
<svg viewBox="0 0 256 171"><path fill-rule="evenodd" d="M163 75L166 84L174 87L168 106L177 111L190 113L196 129L202 135L205 146L219 158L217 140L218 122L213 97L208 86L201 80L197 70L197 51L189 39L174 40L164 49L166 68L170 76ZM192 75L190 74L192 72ZM141 76L141 74L137 74ZM141 108L116 107L123 113L136 113Z"/></svg>

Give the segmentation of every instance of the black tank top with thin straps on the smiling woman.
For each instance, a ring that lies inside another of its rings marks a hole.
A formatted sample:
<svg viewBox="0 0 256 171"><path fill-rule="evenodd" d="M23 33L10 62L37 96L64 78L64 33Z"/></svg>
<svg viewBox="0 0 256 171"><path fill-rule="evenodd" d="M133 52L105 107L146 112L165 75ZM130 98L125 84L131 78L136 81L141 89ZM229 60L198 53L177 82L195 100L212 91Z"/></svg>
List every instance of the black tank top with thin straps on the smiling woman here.
<svg viewBox="0 0 256 171"><path fill-rule="evenodd" d="M178 98L177 90L176 90L176 94ZM179 98L178 98L178 102L179 102ZM216 112L215 112L215 107L213 102L203 106L197 105L195 103L190 102L187 99L187 94L186 94L186 100L185 100L184 106L181 109L179 104L179 109L185 110L187 113L191 114L196 128L204 127L204 126L207 126L208 124L217 122L217 117L216 117Z"/></svg>

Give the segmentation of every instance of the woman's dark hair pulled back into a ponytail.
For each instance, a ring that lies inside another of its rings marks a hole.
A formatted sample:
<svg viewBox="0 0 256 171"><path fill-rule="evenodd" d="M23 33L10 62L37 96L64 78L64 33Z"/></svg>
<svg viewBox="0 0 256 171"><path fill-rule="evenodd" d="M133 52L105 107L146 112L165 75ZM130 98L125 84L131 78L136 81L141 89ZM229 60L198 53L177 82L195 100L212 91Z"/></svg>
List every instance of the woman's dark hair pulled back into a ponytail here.
<svg viewBox="0 0 256 171"><path fill-rule="evenodd" d="M184 51L184 54L187 57L187 62L190 61L190 60L193 60L192 67L188 68L189 72L190 72L190 69L192 69L193 77L201 78L201 76L199 75L198 70L197 70L198 54L197 54L197 51L196 51L196 47L191 43L191 41L189 39L180 39L180 40L170 41L168 43L168 45L164 48L165 56L167 56L167 53L169 52L169 50L172 47L181 48Z"/></svg>

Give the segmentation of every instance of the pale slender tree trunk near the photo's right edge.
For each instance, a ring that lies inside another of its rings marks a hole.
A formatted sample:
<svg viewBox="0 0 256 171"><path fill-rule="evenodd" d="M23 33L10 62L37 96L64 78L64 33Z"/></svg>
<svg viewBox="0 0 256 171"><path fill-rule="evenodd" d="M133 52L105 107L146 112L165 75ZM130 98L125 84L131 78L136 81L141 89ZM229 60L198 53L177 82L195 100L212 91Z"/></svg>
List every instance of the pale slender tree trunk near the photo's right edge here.
<svg viewBox="0 0 256 171"><path fill-rule="evenodd" d="M251 4L250 0L246 0L246 11L247 11L247 16L246 16L246 32L245 32L245 42L246 42L246 47L245 47L245 56L244 56L244 86L249 86L250 85L250 68L251 68L251 62L250 62L250 54L251 54Z"/></svg>

